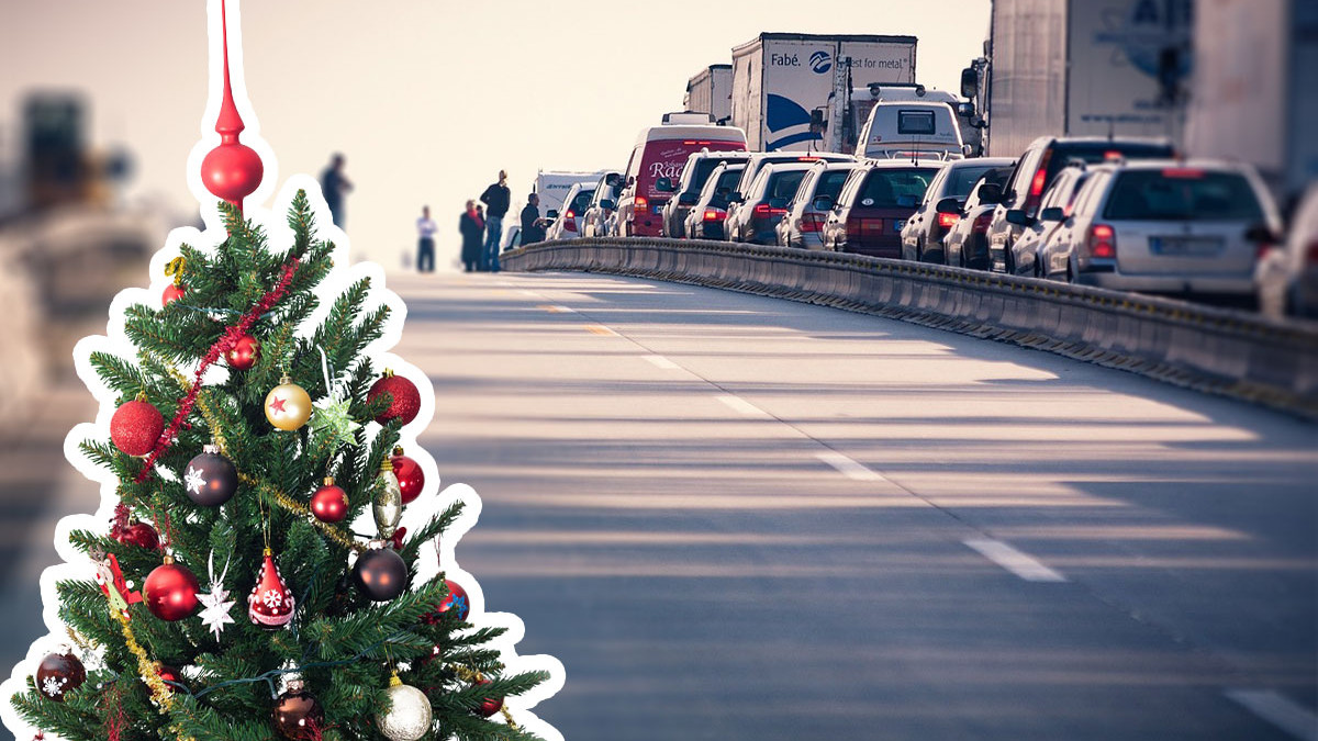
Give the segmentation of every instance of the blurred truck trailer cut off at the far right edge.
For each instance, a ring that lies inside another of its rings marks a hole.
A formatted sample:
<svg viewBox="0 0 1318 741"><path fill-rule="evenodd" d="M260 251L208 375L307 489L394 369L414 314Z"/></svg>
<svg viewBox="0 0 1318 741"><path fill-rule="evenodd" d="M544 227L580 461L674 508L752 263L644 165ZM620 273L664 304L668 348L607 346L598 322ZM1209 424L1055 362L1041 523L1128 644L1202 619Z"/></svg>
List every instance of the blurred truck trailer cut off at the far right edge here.
<svg viewBox="0 0 1318 741"><path fill-rule="evenodd" d="M1292 204L1318 181L1318 4L1201 3L1194 67L1186 153L1249 162Z"/></svg>

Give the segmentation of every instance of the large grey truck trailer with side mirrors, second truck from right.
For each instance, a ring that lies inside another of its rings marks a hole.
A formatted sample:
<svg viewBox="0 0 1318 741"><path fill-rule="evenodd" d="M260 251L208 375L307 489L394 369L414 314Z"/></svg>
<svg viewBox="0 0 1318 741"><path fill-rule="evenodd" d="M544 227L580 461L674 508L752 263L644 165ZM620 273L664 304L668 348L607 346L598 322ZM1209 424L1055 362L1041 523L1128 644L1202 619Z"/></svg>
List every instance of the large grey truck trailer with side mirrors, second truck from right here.
<svg viewBox="0 0 1318 741"><path fill-rule="evenodd" d="M1178 141L1194 0L995 0L985 57L962 71L987 153L1040 136Z"/></svg>

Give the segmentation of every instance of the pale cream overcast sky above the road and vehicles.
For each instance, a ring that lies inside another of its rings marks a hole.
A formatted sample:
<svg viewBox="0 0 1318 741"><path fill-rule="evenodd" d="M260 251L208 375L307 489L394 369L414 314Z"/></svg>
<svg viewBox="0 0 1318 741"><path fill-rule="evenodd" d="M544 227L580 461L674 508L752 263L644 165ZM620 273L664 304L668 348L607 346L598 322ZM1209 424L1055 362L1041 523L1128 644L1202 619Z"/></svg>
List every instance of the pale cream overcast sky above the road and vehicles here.
<svg viewBox="0 0 1318 741"><path fill-rule="evenodd" d="M25 91L76 90L91 140L134 154L133 194L195 212L185 177L206 108L204 0L4 0L0 127L12 146ZM248 96L279 181L347 154L355 254L401 265L420 206L440 220L511 174L621 169L637 132L681 108L687 79L760 32L912 34L919 80L957 90L981 53L988 0L246 0ZM448 228L452 222L452 228Z"/></svg>

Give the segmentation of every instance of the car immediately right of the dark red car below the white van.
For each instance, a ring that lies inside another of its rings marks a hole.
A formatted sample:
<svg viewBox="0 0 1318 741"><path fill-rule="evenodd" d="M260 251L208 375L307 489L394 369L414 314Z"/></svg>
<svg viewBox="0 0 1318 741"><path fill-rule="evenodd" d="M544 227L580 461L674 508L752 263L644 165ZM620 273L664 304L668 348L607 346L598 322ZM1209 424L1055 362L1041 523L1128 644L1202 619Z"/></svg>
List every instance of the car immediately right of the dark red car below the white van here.
<svg viewBox="0 0 1318 741"><path fill-rule="evenodd" d="M1010 157L981 157L948 162L929 183L920 206L902 228L902 258L946 265L942 237L957 224L970 189L995 167L1010 167Z"/></svg>

